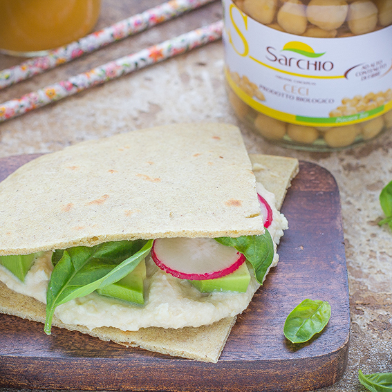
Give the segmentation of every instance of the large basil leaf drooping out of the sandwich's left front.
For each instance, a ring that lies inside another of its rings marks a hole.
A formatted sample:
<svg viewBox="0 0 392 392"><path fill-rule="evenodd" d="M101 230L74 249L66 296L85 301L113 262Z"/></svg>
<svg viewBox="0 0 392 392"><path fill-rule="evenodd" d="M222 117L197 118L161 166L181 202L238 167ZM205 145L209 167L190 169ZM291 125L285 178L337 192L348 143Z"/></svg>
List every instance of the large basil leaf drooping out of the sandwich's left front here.
<svg viewBox="0 0 392 392"><path fill-rule="evenodd" d="M55 265L46 292L45 332L49 335L55 308L119 281L144 259L153 241L113 241L91 248L78 246L53 254Z"/></svg>

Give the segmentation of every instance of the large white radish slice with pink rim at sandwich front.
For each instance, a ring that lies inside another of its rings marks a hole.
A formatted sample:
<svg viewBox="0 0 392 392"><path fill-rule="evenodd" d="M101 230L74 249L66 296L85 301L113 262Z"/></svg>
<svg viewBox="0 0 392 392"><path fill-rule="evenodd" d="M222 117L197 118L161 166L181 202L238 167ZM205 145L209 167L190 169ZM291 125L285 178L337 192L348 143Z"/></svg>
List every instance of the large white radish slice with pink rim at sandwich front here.
<svg viewBox="0 0 392 392"><path fill-rule="evenodd" d="M216 279L231 274L245 256L214 239L156 239L151 257L158 267L180 279Z"/></svg>

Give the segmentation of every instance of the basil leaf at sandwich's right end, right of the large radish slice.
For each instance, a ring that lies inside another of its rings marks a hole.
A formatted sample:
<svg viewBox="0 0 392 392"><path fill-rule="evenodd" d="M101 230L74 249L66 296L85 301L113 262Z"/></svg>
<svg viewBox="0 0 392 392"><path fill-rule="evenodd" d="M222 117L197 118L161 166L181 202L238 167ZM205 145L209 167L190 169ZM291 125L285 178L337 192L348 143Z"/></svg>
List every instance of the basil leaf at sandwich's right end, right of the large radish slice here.
<svg viewBox="0 0 392 392"><path fill-rule="evenodd" d="M263 284L265 273L274 259L274 243L268 230L259 236L218 237L215 240L241 252L252 264L256 281Z"/></svg>

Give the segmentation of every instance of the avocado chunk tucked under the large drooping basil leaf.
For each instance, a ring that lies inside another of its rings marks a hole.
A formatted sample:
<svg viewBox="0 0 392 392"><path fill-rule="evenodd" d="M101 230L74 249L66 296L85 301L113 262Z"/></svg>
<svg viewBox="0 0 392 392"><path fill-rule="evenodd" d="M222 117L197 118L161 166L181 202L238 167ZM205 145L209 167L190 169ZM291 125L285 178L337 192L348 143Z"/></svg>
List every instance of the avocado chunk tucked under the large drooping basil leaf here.
<svg viewBox="0 0 392 392"><path fill-rule="evenodd" d="M146 262L142 260L126 277L104 288L97 288L96 292L105 297L142 305L144 304L144 279L146 279Z"/></svg>

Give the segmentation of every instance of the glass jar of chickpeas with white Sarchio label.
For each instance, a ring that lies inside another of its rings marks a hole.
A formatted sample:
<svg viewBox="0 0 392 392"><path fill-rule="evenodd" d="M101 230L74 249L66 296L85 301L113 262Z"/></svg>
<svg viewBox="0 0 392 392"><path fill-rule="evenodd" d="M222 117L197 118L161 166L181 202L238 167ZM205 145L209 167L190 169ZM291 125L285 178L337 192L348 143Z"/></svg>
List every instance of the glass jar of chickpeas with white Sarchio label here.
<svg viewBox="0 0 392 392"><path fill-rule="evenodd" d="M392 129L392 0L223 0L232 108L283 147L335 151Z"/></svg>

